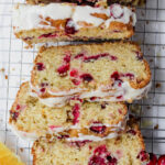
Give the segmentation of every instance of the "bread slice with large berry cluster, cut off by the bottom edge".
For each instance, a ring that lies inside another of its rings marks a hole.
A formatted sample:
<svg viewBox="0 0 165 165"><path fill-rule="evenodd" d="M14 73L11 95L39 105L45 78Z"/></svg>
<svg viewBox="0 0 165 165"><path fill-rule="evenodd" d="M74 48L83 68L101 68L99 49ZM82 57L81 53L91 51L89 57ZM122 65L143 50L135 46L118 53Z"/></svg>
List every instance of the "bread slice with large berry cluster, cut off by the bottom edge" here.
<svg viewBox="0 0 165 165"><path fill-rule="evenodd" d="M67 141L48 136L35 141L33 165L141 165L148 161L138 125L128 125L120 138L94 141Z"/></svg>

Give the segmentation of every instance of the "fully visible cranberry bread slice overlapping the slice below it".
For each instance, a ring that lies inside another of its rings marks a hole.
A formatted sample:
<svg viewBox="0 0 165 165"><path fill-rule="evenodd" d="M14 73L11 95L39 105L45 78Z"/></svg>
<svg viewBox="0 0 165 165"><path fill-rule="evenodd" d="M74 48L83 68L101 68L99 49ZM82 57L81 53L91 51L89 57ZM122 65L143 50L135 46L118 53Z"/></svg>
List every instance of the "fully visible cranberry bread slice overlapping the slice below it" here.
<svg viewBox="0 0 165 165"><path fill-rule="evenodd" d="M130 42L41 47L31 77L33 92L50 107L73 96L132 102L148 91L150 81L150 66Z"/></svg>

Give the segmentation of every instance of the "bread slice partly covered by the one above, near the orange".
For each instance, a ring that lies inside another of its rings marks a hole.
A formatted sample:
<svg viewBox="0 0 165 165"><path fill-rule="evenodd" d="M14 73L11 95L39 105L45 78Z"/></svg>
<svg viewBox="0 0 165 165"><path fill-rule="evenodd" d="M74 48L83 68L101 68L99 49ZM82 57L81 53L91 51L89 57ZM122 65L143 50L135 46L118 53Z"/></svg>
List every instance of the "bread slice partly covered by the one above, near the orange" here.
<svg viewBox="0 0 165 165"><path fill-rule="evenodd" d="M10 110L10 124L22 138L36 139L46 133L97 140L124 130L127 106L122 102L87 102L73 98L61 108L50 108L31 96L29 82L22 84Z"/></svg>

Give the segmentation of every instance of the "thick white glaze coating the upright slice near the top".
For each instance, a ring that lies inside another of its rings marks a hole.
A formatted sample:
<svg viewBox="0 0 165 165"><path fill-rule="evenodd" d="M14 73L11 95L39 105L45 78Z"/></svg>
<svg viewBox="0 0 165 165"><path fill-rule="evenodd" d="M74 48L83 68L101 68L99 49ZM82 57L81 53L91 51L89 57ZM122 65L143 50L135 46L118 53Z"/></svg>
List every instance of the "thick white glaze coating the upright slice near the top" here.
<svg viewBox="0 0 165 165"><path fill-rule="evenodd" d="M114 9L112 9L112 6ZM109 8L94 8L88 6L74 6L68 3L50 3L46 6L30 6L30 4L18 4L13 10L13 26L14 31L32 30L32 29L54 29L50 22L41 24L41 21L45 21L46 18L53 20L73 19L73 24L76 29L82 28L78 22L85 21L91 23L92 26L99 26L105 24L106 28L112 21L122 22L128 24L132 20L132 25L135 25L136 16L135 12L131 8L121 7L119 4L112 4ZM116 10L118 8L118 10ZM123 12L122 16L113 18L110 13L119 15ZM92 13L101 13L108 16L107 20L91 15Z"/></svg>

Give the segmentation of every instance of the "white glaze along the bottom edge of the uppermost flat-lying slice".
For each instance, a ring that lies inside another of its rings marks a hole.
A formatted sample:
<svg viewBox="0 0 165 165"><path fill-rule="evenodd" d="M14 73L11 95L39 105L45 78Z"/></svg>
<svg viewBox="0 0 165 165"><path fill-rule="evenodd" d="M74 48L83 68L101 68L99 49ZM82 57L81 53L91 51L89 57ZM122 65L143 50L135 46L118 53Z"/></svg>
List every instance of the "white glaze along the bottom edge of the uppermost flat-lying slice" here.
<svg viewBox="0 0 165 165"><path fill-rule="evenodd" d="M150 81L145 87L141 89L134 89L130 86L128 81L124 81L121 87L113 87L113 89L109 89L108 91L102 91L102 88L105 89L106 87L100 87L97 90L94 91L84 91L79 90L79 98L80 99L88 99L91 97L98 97L94 101L129 101L129 100L139 100L145 95L147 95L148 90L151 89L152 82ZM40 89L34 88L31 85L32 89L35 91L40 91ZM108 89L108 88L107 88ZM50 92L50 91L48 91ZM59 94L63 92L63 97L58 97ZM51 98L40 98L37 95L36 97L41 100L41 102L45 103L48 107L55 107L55 106L63 106L65 105L69 99L73 98L70 96L70 91L62 91L62 92L51 92L52 95L56 97L51 97ZM118 96L122 96L121 99L118 99ZM109 97L109 98L106 98ZM88 101L91 101L90 99Z"/></svg>

